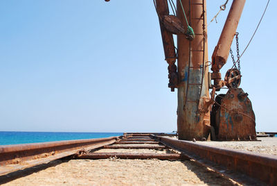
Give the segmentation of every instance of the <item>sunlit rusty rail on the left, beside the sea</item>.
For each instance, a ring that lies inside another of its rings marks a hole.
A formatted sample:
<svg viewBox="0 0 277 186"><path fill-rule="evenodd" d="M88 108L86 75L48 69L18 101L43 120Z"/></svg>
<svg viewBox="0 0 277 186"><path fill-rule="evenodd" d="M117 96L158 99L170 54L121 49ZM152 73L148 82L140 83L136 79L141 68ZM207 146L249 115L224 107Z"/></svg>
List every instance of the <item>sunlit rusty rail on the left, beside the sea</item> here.
<svg viewBox="0 0 277 186"><path fill-rule="evenodd" d="M0 146L0 176L73 155L82 149L91 150L113 144L119 137L90 140L67 140L34 144Z"/></svg>

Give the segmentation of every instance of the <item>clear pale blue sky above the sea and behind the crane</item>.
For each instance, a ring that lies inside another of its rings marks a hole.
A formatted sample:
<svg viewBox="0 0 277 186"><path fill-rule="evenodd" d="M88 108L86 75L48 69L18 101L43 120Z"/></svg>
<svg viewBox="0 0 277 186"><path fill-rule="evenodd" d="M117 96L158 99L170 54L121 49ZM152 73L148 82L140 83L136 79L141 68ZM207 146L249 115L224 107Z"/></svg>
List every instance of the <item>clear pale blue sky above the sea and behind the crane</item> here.
<svg viewBox="0 0 277 186"><path fill-rule="evenodd" d="M207 2L208 22L224 1ZM210 60L231 2L208 26ZM245 4L240 51L266 3ZM256 130L277 131L276 6L269 3L241 58ZM229 58L223 76L231 66ZM168 88L167 67L152 0L0 1L0 130L177 130L177 92Z"/></svg>

